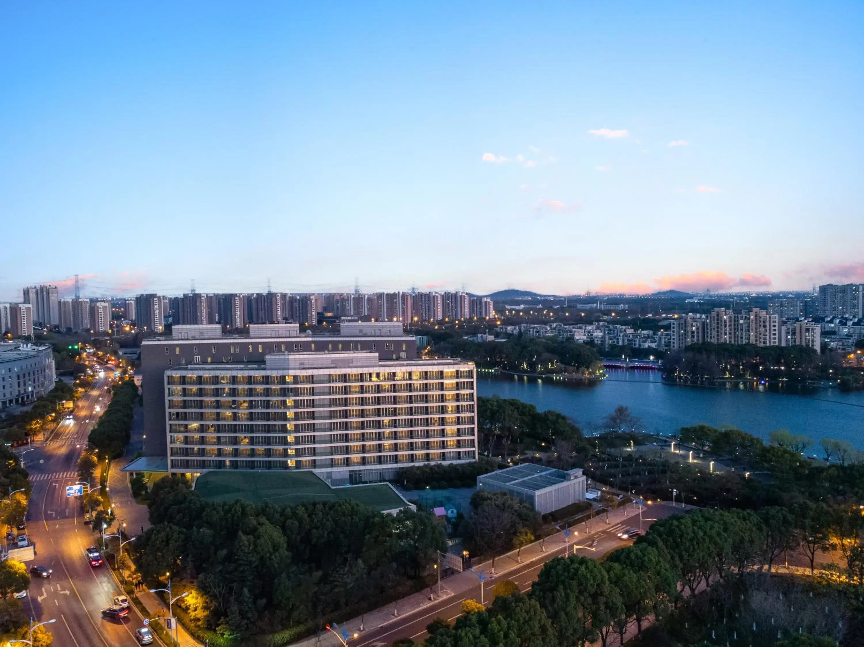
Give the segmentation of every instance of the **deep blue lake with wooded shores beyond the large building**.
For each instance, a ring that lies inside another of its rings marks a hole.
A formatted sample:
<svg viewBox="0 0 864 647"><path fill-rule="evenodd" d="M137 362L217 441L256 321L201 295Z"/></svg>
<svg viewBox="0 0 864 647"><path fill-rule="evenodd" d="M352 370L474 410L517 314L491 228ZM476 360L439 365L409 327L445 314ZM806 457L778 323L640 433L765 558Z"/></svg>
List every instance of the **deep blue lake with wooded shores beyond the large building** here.
<svg viewBox="0 0 864 647"><path fill-rule="evenodd" d="M606 416L623 404L653 434L669 435L679 428L705 423L730 425L768 440L774 429L810 436L821 454L821 438L836 438L864 449L864 391L841 393L822 389L809 396L664 384L657 371L607 371L593 386L530 381L518 377L480 377L480 396L514 397L555 409L573 418L586 435L600 430Z"/></svg>

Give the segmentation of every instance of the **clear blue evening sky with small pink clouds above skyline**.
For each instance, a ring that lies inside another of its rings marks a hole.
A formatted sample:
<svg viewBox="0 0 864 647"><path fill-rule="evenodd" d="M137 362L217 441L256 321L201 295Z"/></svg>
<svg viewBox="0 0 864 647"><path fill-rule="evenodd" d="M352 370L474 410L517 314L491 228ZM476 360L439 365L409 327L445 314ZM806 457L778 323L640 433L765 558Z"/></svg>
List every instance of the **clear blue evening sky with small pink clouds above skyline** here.
<svg viewBox="0 0 864 647"><path fill-rule="evenodd" d="M864 281L864 4L754 4L2 3L0 299Z"/></svg>

